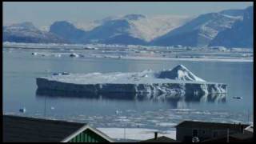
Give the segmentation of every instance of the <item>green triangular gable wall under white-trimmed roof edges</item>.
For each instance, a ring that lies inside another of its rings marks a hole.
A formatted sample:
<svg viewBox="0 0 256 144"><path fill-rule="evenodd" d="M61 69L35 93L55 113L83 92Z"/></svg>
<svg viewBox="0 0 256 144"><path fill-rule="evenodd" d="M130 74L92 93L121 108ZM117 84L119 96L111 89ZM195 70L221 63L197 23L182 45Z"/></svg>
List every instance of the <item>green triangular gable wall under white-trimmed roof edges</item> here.
<svg viewBox="0 0 256 144"><path fill-rule="evenodd" d="M85 130L78 134L76 137L72 138L70 142L108 142L106 139L102 138L98 134L95 134L91 130Z"/></svg>

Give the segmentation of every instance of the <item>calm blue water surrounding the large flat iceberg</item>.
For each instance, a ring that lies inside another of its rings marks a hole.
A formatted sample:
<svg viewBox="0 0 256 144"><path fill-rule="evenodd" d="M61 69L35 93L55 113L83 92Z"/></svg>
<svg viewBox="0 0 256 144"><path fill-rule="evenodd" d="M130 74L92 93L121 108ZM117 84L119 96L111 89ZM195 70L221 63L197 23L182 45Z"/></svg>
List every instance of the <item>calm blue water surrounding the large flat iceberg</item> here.
<svg viewBox="0 0 256 144"><path fill-rule="evenodd" d="M38 118L87 122L97 127L174 129L185 119L252 122L253 62L186 62L69 58L31 55L31 50L3 50L3 111ZM48 51L50 52L50 51ZM86 52L85 52L86 54ZM172 102L115 98L54 97L36 94L36 78L54 72L135 72L172 69L182 64L198 77L228 85L222 102ZM242 97L234 99L232 97ZM26 107L26 113L18 110Z"/></svg>

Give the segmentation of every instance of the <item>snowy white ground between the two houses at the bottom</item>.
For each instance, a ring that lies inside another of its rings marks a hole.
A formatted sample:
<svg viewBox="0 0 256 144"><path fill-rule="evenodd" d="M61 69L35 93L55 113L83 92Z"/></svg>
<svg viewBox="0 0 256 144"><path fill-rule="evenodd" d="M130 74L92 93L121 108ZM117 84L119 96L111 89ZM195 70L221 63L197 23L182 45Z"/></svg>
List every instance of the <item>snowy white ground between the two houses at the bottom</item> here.
<svg viewBox="0 0 256 144"><path fill-rule="evenodd" d="M154 138L154 132L158 130L153 129L140 129L140 128L97 128L101 130L104 134L108 135L110 138L114 139L134 139L134 140L146 140ZM168 138L176 139L176 131L168 130L165 134L160 133L158 137L166 136Z"/></svg>

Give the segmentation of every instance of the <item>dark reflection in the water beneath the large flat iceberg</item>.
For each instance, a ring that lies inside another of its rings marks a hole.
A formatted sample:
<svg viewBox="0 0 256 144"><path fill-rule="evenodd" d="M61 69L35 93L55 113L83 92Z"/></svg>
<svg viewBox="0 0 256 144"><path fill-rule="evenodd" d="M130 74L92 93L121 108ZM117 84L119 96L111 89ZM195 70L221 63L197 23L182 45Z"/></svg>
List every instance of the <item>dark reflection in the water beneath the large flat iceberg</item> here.
<svg viewBox="0 0 256 144"><path fill-rule="evenodd" d="M226 94L135 94L135 93L81 93L64 90L37 89L36 95L49 98L89 98L154 102L226 102Z"/></svg>

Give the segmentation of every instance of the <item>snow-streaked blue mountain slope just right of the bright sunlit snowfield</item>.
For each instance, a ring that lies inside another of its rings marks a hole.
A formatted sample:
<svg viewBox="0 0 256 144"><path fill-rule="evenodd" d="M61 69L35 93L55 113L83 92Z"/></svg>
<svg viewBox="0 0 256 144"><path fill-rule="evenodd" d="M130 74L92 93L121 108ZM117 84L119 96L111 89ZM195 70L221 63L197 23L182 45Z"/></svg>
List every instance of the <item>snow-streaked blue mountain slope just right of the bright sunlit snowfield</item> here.
<svg viewBox="0 0 256 144"><path fill-rule="evenodd" d="M230 28L239 18L226 14L210 13L186 22L169 33L155 38L151 44L158 46L208 46L222 30Z"/></svg>

